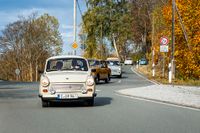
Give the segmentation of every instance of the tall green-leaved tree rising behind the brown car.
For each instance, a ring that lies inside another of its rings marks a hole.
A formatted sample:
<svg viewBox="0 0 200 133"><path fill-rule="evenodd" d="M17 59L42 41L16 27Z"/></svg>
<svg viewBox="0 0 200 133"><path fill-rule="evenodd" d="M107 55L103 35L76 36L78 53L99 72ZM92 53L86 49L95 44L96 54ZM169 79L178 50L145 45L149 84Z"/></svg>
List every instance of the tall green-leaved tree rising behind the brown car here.
<svg viewBox="0 0 200 133"><path fill-rule="evenodd" d="M89 57L106 56L98 54L102 53L102 47L106 48L106 41L113 42L113 35L119 53L126 53L125 45L132 37L131 18L129 2L125 0L88 0L88 11L84 14L82 25L83 32L87 34L85 54Z"/></svg>

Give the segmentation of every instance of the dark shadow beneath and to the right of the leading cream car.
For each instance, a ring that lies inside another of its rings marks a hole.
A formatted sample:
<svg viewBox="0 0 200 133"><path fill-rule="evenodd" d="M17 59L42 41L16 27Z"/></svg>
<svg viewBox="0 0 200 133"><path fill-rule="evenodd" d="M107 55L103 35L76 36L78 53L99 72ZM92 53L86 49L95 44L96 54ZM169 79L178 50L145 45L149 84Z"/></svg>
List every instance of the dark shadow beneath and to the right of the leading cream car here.
<svg viewBox="0 0 200 133"><path fill-rule="evenodd" d="M112 98L110 97L97 97L93 107L105 106L111 104ZM84 101L71 101L71 102L51 102L50 107L89 107Z"/></svg>

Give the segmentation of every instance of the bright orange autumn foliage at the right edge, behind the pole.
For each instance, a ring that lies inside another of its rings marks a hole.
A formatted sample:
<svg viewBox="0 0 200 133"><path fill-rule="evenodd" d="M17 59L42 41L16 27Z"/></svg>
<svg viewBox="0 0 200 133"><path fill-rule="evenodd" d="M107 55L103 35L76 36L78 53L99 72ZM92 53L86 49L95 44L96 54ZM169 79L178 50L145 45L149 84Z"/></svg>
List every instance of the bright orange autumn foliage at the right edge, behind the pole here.
<svg viewBox="0 0 200 133"><path fill-rule="evenodd" d="M171 0L162 7L162 17L165 21L162 28L156 31L158 39L162 36L171 38L172 5ZM176 69L182 78L200 79L200 1L199 0L176 0L176 6L181 15L182 22L188 35L187 42L184 38L180 20L175 16L175 60ZM154 42L155 42L154 41ZM169 44L171 46L171 44ZM155 45L154 45L155 47ZM159 44L156 45L159 52Z"/></svg>

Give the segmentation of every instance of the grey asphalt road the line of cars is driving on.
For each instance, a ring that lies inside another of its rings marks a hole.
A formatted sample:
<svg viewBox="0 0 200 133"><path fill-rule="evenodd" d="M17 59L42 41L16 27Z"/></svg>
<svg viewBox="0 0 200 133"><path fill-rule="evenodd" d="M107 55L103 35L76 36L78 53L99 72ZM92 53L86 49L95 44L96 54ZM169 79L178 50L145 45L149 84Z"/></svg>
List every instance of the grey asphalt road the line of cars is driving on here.
<svg viewBox="0 0 200 133"><path fill-rule="evenodd" d="M0 82L0 133L200 133L200 111L137 100L115 91L151 85L125 66L123 78L97 85L94 107L42 108L38 83Z"/></svg>

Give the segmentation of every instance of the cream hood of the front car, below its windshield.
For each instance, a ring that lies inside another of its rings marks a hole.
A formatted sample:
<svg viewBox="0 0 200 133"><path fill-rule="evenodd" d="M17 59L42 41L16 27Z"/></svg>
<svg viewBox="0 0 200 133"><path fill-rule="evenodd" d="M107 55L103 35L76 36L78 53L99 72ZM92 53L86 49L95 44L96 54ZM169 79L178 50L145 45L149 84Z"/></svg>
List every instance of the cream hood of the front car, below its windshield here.
<svg viewBox="0 0 200 133"><path fill-rule="evenodd" d="M89 76L88 72L49 72L45 74L50 82L86 82L87 77Z"/></svg>

